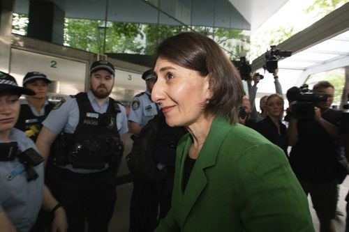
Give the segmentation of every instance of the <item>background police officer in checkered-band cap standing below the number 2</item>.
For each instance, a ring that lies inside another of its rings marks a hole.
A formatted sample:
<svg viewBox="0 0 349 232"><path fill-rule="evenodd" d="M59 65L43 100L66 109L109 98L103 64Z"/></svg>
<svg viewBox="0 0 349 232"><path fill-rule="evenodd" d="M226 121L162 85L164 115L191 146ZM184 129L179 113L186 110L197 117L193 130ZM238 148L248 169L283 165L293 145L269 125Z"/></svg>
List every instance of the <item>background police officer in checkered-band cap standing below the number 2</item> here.
<svg viewBox="0 0 349 232"><path fill-rule="evenodd" d="M23 79L23 86L36 94L27 95L25 99L20 100L20 117L15 127L26 132L34 141L40 132L41 123L54 107L54 104L46 99L50 83L50 79L41 72L27 72Z"/></svg>

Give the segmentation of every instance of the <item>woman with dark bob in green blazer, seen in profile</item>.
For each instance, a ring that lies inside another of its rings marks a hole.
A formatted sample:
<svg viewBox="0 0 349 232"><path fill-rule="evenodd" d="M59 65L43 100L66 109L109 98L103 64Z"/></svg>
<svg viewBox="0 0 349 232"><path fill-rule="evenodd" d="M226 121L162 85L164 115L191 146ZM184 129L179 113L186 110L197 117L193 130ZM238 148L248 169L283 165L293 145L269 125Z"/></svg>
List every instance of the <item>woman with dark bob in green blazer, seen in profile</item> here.
<svg viewBox="0 0 349 232"><path fill-rule="evenodd" d="M210 38L180 33L157 49L151 99L184 126L172 208L159 231L313 231L306 196L281 149L237 123L241 79Z"/></svg>

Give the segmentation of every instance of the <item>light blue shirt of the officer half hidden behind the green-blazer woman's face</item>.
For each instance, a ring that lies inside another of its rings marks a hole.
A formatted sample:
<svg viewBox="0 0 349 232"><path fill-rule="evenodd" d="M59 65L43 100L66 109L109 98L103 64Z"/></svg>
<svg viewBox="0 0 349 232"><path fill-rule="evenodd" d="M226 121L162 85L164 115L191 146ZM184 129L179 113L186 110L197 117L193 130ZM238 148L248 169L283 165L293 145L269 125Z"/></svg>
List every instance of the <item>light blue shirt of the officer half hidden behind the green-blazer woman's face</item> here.
<svg viewBox="0 0 349 232"><path fill-rule="evenodd" d="M149 90L135 95L131 103L128 121L133 121L142 126L148 123L151 118L158 114L158 105L151 101Z"/></svg>

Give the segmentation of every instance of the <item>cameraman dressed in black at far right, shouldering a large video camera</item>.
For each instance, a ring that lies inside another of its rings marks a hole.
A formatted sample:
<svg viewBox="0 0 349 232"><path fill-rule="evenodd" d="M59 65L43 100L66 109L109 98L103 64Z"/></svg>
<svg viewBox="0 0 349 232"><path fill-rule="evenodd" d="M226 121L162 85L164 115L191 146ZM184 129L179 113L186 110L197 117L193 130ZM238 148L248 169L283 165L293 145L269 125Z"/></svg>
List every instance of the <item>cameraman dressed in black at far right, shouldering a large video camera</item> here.
<svg viewBox="0 0 349 232"><path fill-rule="evenodd" d="M339 127L336 125L340 121L341 111L329 108L334 98L332 84L318 82L313 87L313 94L318 93L326 93L327 100L314 98L313 118L297 118L295 102L290 104L290 164L304 192L311 195L320 221L320 231L335 231L338 195L335 139L339 137Z"/></svg>

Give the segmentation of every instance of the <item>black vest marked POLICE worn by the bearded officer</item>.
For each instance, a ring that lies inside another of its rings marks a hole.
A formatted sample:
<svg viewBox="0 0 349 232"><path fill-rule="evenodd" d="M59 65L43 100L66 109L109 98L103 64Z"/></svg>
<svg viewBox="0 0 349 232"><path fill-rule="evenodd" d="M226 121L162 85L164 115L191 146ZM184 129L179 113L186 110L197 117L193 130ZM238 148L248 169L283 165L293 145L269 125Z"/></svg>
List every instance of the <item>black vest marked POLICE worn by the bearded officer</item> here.
<svg viewBox="0 0 349 232"><path fill-rule="evenodd" d="M80 169L103 169L121 160L123 144L117 130L117 101L109 98L104 114L94 111L87 93L75 95L79 107L79 123L73 134L64 133L66 162Z"/></svg>

